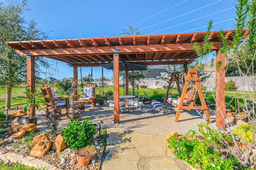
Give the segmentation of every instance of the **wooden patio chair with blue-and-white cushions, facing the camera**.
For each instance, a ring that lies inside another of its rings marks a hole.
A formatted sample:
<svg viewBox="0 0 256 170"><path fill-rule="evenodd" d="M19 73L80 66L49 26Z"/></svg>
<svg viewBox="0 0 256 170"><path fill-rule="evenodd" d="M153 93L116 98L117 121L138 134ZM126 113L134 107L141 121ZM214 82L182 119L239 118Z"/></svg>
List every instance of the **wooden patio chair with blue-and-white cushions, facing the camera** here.
<svg viewBox="0 0 256 170"><path fill-rule="evenodd" d="M84 90L82 94L79 94L79 96L83 95L79 98L80 102L92 102L92 108L96 106L96 99L94 97L95 94L95 84L85 84Z"/></svg>

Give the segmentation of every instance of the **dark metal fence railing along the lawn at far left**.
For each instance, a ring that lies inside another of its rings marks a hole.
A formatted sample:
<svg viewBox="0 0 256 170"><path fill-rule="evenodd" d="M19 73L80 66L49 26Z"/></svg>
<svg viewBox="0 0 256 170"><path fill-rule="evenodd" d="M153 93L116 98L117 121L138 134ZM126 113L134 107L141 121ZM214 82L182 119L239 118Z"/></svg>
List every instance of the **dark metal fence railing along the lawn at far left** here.
<svg viewBox="0 0 256 170"><path fill-rule="evenodd" d="M36 90L41 90L42 85L36 85ZM26 92L26 85L16 86L12 88L12 97L11 99L16 99L18 96L26 96L24 92ZM0 88L0 102L4 102L6 100L7 88Z"/></svg>

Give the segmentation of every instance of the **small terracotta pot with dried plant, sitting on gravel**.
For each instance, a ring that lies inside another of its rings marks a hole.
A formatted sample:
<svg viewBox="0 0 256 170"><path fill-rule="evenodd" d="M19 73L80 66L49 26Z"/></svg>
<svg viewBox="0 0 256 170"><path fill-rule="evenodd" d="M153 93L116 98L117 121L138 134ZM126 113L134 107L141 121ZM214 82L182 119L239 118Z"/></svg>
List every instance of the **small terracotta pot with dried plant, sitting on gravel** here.
<svg viewBox="0 0 256 170"><path fill-rule="evenodd" d="M92 158L92 149L90 146L79 149L76 152L76 159L80 166L87 165Z"/></svg>

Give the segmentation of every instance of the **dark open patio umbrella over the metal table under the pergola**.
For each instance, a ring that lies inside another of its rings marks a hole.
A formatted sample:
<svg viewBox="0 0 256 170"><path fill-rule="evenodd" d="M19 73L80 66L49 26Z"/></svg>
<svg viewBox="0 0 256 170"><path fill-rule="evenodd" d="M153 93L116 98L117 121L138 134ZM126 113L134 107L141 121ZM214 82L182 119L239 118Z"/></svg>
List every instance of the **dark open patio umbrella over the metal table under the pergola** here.
<svg viewBox="0 0 256 170"><path fill-rule="evenodd" d="M109 63L109 64L102 64L100 65L108 70L114 70L114 63ZM133 70L147 70L147 66L143 64L136 64L136 63L128 63L128 62L119 62L119 70L124 70L124 71L133 71ZM124 77L125 77L125 72L124 72ZM124 84L123 84L124 88Z"/></svg>

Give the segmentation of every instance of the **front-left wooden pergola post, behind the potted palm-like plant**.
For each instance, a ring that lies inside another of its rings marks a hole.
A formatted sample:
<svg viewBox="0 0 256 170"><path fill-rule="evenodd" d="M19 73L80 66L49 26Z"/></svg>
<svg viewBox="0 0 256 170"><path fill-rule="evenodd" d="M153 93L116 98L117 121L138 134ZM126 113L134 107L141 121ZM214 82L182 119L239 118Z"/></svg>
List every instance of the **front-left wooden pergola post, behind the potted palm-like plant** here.
<svg viewBox="0 0 256 170"><path fill-rule="evenodd" d="M32 92L36 90L35 84L35 57L30 56L29 53L26 53L27 56L27 88ZM36 115L36 109L33 109L33 116ZM30 115L28 115L29 117Z"/></svg>

